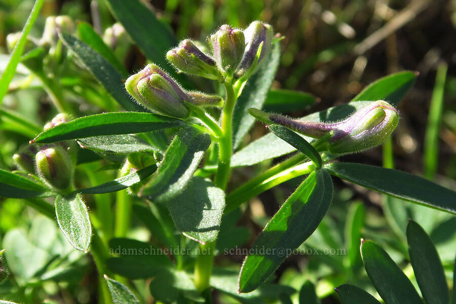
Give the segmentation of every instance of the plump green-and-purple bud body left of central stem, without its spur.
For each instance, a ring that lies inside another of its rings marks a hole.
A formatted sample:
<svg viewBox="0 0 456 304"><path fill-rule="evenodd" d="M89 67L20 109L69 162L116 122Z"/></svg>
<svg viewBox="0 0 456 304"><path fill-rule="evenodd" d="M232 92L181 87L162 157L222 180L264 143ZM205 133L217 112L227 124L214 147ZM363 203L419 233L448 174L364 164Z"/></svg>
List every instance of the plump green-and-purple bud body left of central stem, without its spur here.
<svg viewBox="0 0 456 304"><path fill-rule="evenodd" d="M180 119L189 116L183 101L190 98L156 64L148 64L142 71L131 75L125 88L139 104L153 112Z"/></svg>

